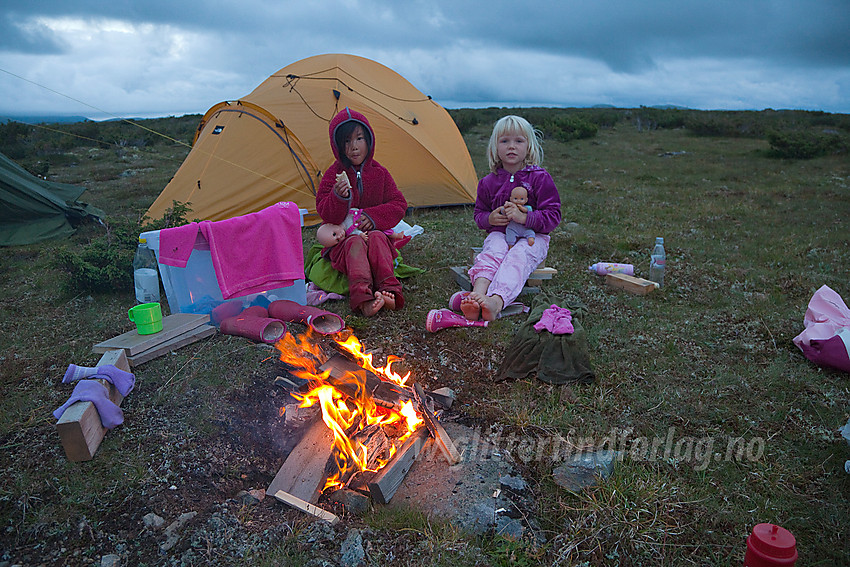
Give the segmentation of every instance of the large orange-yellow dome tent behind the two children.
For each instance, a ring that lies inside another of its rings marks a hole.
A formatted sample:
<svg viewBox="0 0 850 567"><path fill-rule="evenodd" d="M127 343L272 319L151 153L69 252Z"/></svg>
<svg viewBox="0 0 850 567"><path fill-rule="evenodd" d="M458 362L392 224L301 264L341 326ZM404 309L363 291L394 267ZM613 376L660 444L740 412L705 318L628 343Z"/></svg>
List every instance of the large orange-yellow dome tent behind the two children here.
<svg viewBox="0 0 850 567"><path fill-rule="evenodd" d="M375 130L375 159L412 207L473 203L477 177L449 113L391 69L354 55L317 55L284 67L201 120L192 151L148 209L173 201L189 219L222 220L293 201L317 221L315 195L333 163L328 124L345 107Z"/></svg>

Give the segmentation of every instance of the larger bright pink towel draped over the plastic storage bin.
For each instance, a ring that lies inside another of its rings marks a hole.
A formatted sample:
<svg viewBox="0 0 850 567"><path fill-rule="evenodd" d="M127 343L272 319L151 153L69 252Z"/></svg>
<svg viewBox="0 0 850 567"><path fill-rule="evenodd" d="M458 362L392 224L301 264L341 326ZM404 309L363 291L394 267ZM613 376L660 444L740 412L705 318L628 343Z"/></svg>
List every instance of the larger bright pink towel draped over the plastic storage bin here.
<svg viewBox="0 0 850 567"><path fill-rule="evenodd" d="M301 215L295 203L200 224L210 243L213 268L224 299L261 293L304 279Z"/></svg>

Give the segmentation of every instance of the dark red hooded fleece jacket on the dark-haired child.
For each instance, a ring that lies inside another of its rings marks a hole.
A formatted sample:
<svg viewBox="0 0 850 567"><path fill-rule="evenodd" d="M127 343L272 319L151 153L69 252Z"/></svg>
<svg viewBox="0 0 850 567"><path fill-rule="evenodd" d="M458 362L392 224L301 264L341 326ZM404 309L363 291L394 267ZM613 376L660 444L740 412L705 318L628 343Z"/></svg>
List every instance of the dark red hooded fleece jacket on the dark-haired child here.
<svg viewBox="0 0 850 567"><path fill-rule="evenodd" d="M337 128L344 122L354 120L360 123L372 139L369 155L359 167L343 168L340 162L340 148L337 147L335 136ZM375 225L375 230L393 228L404 218L407 211L407 200L396 187L390 172L373 159L375 155L375 132L366 117L355 110L345 108L331 120L329 127L331 149L336 161L322 176L319 191L316 194L316 210L322 221L342 224L349 209L362 209L363 213ZM348 175L351 192L347 199L334 193L333 186L336 176L341 171Z"/></svg>

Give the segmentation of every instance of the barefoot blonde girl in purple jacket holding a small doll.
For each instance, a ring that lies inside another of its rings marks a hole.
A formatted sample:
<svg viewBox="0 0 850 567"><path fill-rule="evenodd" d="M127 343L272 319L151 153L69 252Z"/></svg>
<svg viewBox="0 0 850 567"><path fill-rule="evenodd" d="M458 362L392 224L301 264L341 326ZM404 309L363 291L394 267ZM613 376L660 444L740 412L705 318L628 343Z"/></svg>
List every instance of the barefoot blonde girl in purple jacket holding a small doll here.
<svg viewBox="0 0 850 567"><path fill-rule="evenodd" d="M493 321L522 291L525 281L549 252L549 233L561 222L561 197L549 173L540 167L543 149L538 134L520 116L496 122L487 146L490 173L478 182L475 223L487 231L481 253L469 269L472 291L461 300L464 317ZM511 190L528 191L531 210L511 202ZM505 227L511 221L536 233L531 246L508 246Z"/></svg>

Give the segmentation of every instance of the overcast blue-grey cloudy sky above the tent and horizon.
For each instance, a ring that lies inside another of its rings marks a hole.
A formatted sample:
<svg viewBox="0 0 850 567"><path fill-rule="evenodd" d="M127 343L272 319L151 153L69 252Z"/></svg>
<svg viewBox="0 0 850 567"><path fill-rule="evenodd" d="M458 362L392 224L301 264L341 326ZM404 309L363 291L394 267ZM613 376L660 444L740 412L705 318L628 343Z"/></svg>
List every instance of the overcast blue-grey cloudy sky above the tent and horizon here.
<svg viewBox="0 0 850 567"><path fill-rule="evenodd" d="M203 114L321 53L447 108L850 113L850 0L0 2L0 115Z"/></svg>

